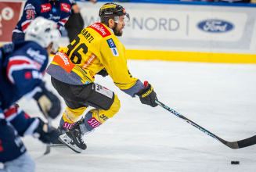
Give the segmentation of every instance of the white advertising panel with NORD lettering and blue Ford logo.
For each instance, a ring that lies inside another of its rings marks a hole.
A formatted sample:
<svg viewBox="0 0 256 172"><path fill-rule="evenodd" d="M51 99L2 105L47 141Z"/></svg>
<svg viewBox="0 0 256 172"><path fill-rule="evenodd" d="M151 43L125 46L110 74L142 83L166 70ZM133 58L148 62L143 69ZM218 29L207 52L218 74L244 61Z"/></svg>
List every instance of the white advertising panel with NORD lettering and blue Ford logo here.
<svg viewBox="0 0 256 172"><path fill-rule="evenodd" d="M126 48L184 52L256 52L256 8L120 3L131 20L120 40ZM80 2L85 27L99 22L102 2ZM255 46L254 46L255 45Z"/></svg>

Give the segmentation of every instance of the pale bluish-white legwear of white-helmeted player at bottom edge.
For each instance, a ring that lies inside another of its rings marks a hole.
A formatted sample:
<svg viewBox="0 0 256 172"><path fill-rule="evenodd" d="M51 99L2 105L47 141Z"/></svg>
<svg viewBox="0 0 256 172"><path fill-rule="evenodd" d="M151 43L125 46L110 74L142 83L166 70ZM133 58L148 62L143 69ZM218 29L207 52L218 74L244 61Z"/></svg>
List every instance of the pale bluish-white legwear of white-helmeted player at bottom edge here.
<svg viewBox="0 0 256 172"><path fill-rule="evenodd" d="M35 163L31 156L25 152L12 161L4 163L6 171L34 172Z"/></svg>

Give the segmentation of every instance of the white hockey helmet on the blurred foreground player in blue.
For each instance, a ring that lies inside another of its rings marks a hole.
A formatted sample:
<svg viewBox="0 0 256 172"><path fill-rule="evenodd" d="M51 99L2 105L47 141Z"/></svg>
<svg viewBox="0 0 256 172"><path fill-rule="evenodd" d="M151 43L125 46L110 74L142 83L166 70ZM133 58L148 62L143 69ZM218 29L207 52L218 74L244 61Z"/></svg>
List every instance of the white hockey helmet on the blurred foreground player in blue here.
<svg viewBox="0 0 256 172"><path fill-rule="evenodd" d="M52 52L57 52L59 49L59 37L57 24L41 16L31 22L25 34L26 41L35 41L43 48L47 48L52 43Z"/></svg>

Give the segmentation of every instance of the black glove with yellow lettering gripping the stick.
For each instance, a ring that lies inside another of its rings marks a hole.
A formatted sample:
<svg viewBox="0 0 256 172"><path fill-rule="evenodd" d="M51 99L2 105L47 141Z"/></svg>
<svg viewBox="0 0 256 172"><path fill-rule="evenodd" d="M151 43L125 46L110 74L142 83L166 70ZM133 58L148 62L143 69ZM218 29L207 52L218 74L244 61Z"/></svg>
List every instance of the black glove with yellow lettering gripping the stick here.
<svg viewBox="0 0 256 172"><path fill-rule="evenodd" d="M152 107L156 107L157 103L157 94L153 91L153 87L147 81L144 82L145 88L141 91L137 92L136 95L139 95L140 102L142 104L150 105Z"/></svg>

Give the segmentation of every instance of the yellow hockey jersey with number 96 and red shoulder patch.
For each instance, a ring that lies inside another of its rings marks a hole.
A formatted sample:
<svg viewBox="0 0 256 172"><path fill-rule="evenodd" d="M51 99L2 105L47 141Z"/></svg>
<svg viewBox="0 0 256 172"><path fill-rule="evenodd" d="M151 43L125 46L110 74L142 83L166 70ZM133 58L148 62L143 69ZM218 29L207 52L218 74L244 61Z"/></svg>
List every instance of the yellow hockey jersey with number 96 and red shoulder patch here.
<svg viewBox="0 0 256 172"><path fill-rule="evenodd" d="M89 84L103 68L123 91L137 83L132 94L127 92L129 95L143 88L142 82L129 73L124 45L113 30L103 23L94 23L82 30L63 52L56 54L47 73L67 84Z"/></svg>

